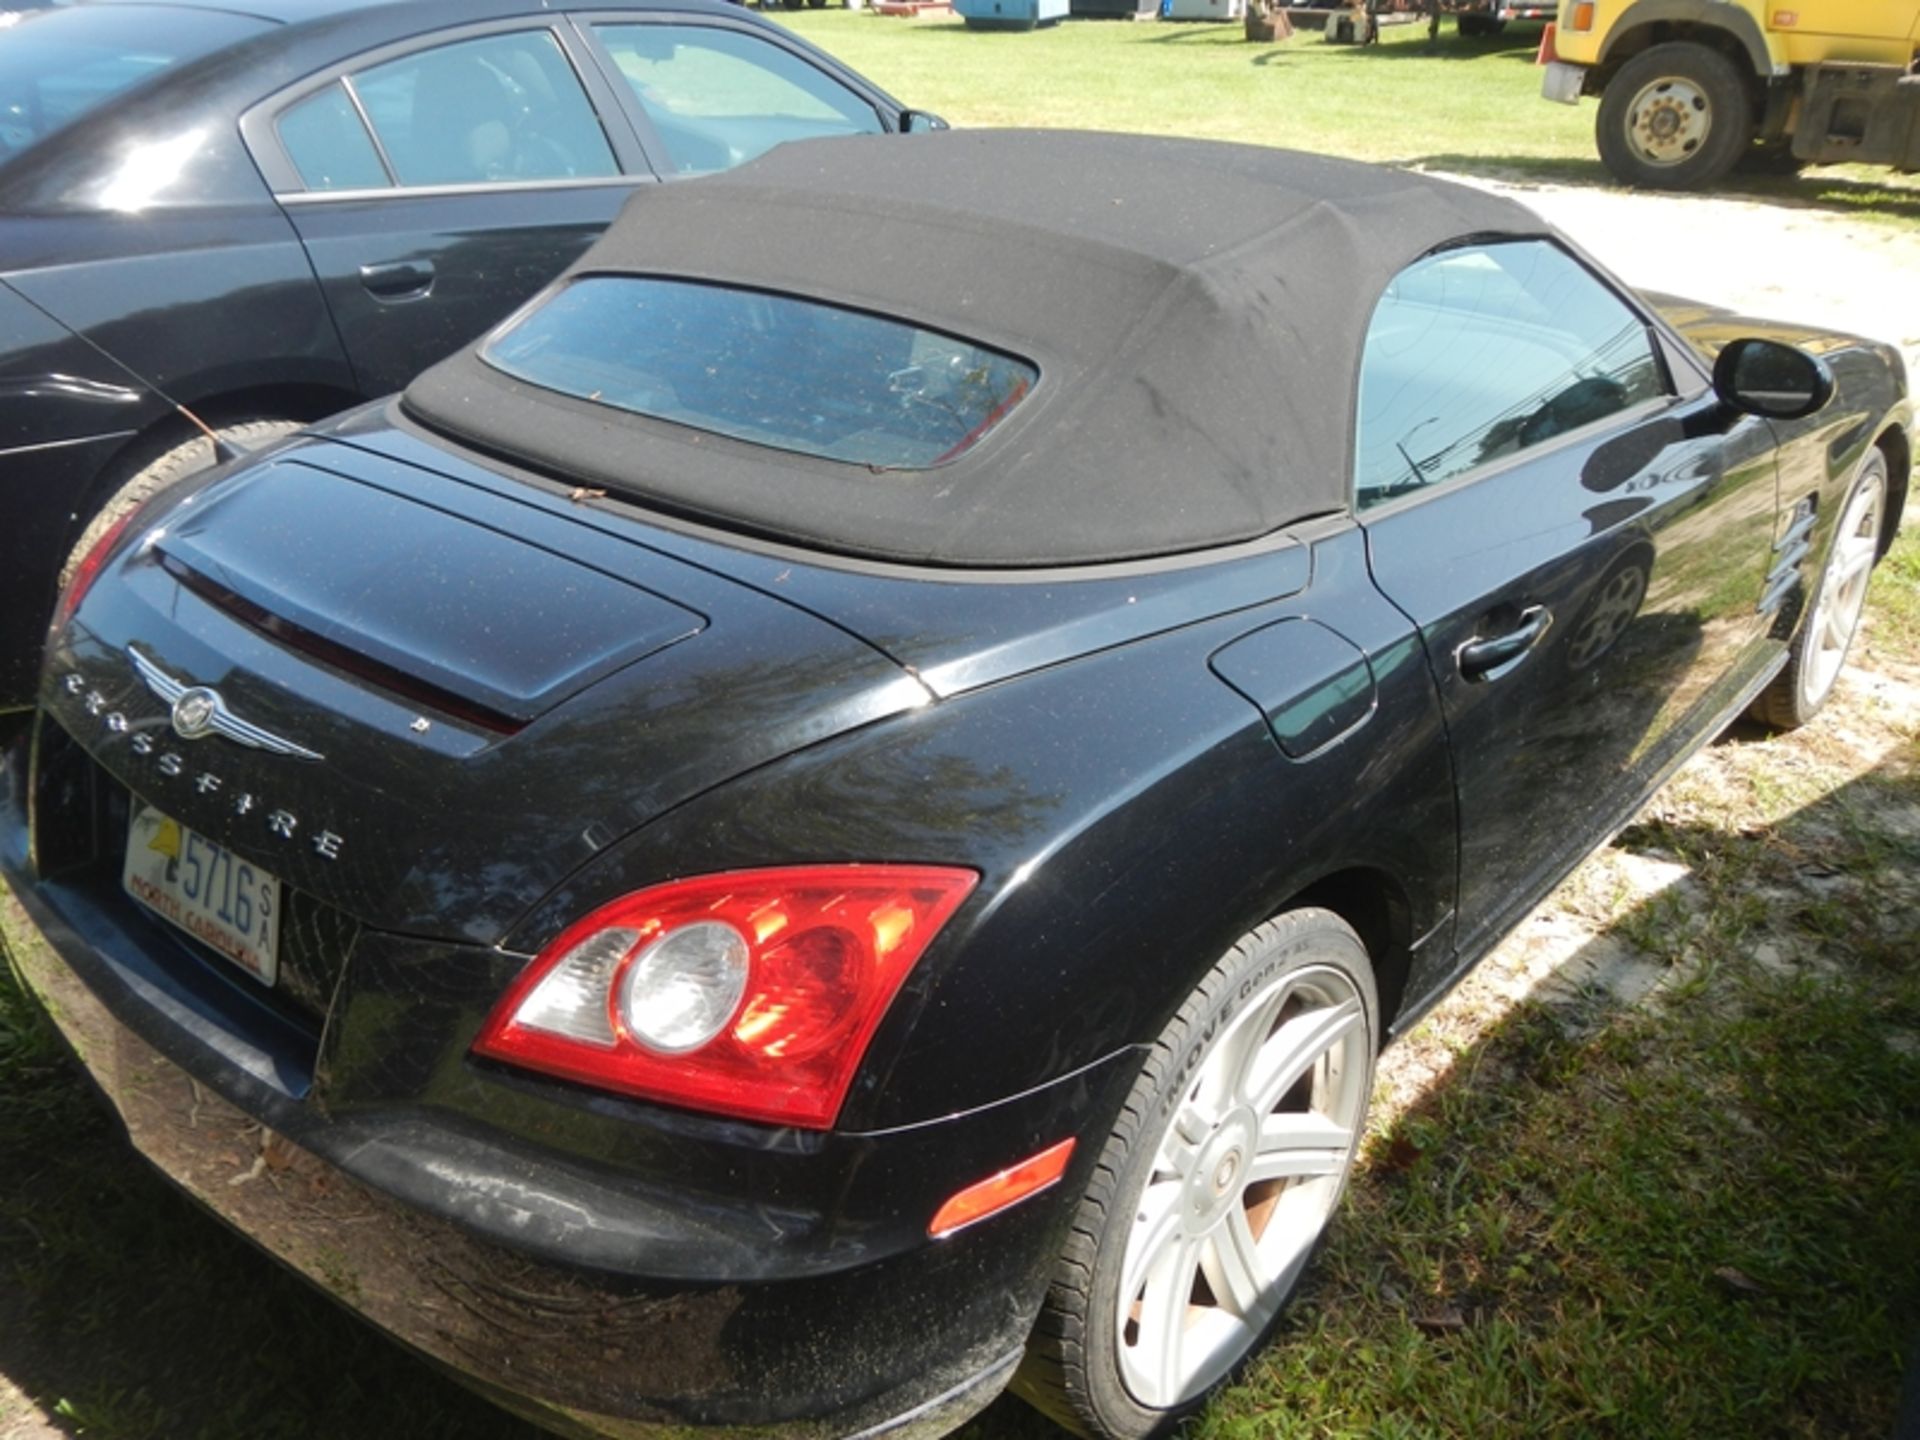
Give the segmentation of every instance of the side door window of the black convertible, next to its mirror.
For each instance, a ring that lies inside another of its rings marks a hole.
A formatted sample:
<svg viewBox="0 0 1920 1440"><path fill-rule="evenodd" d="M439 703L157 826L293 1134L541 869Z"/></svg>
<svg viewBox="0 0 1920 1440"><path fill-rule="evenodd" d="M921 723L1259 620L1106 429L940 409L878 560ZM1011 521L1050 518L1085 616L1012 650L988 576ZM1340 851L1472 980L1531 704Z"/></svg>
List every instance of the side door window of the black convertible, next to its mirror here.
<svg viewBox="0 0 1920 1440"><path fill-rule="evenodd" d="M1356 505L1515 455L1663 392L1653 338L1546 240L1446 250L1380 296L1359 363Z"/></svg>

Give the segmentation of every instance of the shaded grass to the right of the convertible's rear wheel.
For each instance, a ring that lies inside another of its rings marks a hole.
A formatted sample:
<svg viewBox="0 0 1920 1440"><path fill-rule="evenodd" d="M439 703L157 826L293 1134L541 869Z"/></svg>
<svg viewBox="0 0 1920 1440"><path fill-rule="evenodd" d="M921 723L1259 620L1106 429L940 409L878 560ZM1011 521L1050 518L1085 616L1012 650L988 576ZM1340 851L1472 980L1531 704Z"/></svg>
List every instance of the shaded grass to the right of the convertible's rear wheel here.
<svg viewBox="0 0 1920 1440"><path fill-rule="evenodd" d="M1657 801L1613 858L1665 885L1565 956L1523 931L1551 966L1428 1046L1198 1434L1887 1434L1920 1336L1916 818L1912 749L1772 824Z"/></svg>

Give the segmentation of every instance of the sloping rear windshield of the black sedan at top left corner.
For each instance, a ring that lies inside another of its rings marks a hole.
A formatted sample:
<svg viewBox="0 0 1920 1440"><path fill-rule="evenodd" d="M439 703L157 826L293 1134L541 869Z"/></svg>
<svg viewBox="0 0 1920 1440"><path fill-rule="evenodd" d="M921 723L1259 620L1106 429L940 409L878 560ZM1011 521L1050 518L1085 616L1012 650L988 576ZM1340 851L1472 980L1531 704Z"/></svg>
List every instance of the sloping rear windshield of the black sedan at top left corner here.
<svg viewBox="0 0 1920 1440"><path fill-rule="evenodd" d="M84 6L0 27L0 163L177 65L267 29L250 15Z"/></svg>

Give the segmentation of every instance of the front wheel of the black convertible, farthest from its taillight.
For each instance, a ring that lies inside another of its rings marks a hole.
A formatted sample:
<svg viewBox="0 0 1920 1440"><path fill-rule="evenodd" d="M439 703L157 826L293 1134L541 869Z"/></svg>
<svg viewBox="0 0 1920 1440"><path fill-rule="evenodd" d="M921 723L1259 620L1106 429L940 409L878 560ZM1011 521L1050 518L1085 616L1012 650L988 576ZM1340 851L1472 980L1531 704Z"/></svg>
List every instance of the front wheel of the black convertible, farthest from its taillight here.
<svg viewBox="0 0 1920 1440"><path fill-rule="evenodd" d="M1751 714L1761 724L1799 730L1832 699L1847 651L1860 632L1866 586L1880 563L1885 513L1887 455L1876 445L1866 451L1853 476L1826 564L1820 566L1820 582L1788 647L1788 666L1753 701Z"/></svg>

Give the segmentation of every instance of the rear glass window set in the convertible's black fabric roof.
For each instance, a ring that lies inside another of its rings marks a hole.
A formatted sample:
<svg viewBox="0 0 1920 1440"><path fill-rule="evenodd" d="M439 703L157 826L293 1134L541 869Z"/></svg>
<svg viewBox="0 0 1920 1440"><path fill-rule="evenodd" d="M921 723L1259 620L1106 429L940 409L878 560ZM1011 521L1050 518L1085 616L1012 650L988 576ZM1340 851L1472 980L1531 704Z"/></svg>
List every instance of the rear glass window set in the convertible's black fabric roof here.
<svg viewBox="0 0 1920 1440"><path fill-rule="evenodd" d="M849 465L958 457L1039 371L908 321L701 280L582 276L480 357L597 405Z"/></svg>

